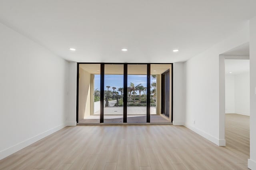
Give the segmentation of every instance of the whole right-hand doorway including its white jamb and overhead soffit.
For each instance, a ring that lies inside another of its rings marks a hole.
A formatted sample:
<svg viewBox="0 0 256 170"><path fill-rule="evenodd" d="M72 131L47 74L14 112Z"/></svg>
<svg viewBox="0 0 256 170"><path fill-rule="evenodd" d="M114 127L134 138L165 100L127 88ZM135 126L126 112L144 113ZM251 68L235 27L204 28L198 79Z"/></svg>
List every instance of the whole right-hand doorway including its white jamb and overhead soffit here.
<svg viewBox="0 0 256 170"><path fill-rule="evenodd" d="M249 51L248 42L219 55L218 145L233 150L244 160L250 157L250 116L246 115L250 113Z"/></svg>

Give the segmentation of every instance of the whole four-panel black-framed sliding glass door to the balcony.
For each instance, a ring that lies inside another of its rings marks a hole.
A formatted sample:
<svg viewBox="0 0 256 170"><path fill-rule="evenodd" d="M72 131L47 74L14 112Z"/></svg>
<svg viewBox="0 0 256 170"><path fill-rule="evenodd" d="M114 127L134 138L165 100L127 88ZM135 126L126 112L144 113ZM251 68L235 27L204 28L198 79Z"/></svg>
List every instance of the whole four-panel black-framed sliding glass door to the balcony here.
<svg viewBox="0 0 256 170"><path fill-rule="evenodd" d="M84 70L90 80L81 79ZM165 75L165 89L161 88L162 74ZM78 75L77 123L172 122L168 119L172 115L171 63L78 63ZM84 100L83 91L88 91L82 90L84 83L90 85L90 93L86 93L90 100ZM82 108L83 105L87 110ZM165 117L162 116L162 106Z"/></svg>

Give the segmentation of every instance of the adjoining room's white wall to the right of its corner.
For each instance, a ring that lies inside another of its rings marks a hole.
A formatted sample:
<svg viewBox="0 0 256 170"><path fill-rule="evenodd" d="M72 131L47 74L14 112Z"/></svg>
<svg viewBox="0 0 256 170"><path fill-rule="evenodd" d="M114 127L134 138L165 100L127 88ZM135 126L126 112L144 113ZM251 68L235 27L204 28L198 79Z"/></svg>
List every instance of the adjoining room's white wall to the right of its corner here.
<svg viewBox="0 0 256 170"><path fill-rule="evenodd" d="M235 75L235 113L250 116L250 73Z"/></svg>

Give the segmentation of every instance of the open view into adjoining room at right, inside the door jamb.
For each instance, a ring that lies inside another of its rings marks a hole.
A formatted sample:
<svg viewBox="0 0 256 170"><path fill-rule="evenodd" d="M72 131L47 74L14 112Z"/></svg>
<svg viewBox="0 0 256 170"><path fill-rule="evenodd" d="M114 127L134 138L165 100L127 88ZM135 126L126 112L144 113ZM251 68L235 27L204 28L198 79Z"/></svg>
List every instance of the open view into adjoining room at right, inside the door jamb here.
<svg viewBox="0 0 256 170"><path fill-rule="evenodd" d="M225 140L250 157L250 59L225 59Z"/></svg>

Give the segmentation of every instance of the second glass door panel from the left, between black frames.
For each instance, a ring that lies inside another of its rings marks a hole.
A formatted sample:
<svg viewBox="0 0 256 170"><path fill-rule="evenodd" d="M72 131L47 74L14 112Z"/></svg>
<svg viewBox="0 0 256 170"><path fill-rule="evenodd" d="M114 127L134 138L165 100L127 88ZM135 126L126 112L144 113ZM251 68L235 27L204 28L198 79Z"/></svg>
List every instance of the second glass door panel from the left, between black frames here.
<svg viewBox="0 0 256 170"><path fill-rule="evenodd" d="M123 122L124 65L104 66L104 123Z"/></svg>

